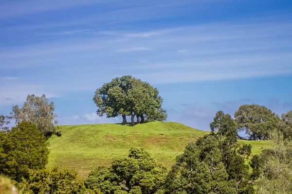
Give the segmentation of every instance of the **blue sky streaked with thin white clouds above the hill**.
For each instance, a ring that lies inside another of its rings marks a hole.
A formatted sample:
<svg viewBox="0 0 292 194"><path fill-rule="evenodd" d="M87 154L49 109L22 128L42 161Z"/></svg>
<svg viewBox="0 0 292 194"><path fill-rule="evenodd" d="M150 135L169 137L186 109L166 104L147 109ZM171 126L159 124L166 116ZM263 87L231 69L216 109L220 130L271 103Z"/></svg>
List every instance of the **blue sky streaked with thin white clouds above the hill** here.
<svg viewBox="0 0 292 194"><path fill-rule="evenodd" d="M59 124L95 114L94 91L132 75L157 87L169 121L208 130L240 104L292 109L291 0L0 0L0 114L28 94Z"/></svg>

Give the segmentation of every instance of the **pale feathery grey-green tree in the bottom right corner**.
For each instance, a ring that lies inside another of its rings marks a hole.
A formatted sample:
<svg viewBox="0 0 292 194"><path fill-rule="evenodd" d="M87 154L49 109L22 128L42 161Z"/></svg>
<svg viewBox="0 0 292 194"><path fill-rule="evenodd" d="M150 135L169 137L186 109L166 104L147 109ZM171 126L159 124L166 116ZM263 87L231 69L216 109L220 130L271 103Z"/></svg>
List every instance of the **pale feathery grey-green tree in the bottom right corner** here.
<svg viewBox="0 0 292 194"><path fill-rule="evenodd" d="M292 193L292 142L282 141L252 159L258 194Z"/></svg>

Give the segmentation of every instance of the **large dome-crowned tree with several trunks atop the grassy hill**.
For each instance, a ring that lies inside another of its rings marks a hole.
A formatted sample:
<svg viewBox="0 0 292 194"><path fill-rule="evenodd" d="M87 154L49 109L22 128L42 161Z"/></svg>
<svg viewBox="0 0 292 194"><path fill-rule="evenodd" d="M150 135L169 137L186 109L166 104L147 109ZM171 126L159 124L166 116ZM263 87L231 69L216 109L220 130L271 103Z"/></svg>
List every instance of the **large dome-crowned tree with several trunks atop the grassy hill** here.
<svg viewBox="0 0 292 194"><path fill-rule="evenodd" d="M123 123L127 123L126 116L131 116L131 123L134 124L134 116L138 123L140 118L143 123L145 117L151 117L162 110L163 99L159 96L159 91L149 83L132 76L122 76L98 88L93 101L99 116L122 115Z"/></svg>

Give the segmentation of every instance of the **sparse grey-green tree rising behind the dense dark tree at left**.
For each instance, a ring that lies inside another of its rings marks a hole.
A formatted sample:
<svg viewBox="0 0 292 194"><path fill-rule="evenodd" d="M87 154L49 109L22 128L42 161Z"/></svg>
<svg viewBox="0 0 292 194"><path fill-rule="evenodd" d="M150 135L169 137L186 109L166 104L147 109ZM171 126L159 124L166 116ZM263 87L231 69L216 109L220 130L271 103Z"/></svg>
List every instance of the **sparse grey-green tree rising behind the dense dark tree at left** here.
<svg viewBox="0 0 292 194"><path fill-rule="evenodd" d="M35 123L37 129L45 136L53 134L58 123L54 102L49 102L45 95L41 97L28 95L21 108L18 105L12 108L11 115L16 124L21 121Z"/></svg>

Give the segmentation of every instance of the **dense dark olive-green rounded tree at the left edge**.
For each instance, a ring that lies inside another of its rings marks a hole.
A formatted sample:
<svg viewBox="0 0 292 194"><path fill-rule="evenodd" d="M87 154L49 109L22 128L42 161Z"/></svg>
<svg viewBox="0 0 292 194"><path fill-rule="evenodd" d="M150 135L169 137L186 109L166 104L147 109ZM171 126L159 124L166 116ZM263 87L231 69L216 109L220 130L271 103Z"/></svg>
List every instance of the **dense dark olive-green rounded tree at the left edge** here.
<svg viewBox="0 0 292 194"><path fill-rule="evenodd" d="M42 169L49 150L44 135L27 121L0 136L0 172L15 180L25 177L29 169Z"/></svg>

